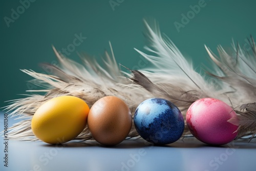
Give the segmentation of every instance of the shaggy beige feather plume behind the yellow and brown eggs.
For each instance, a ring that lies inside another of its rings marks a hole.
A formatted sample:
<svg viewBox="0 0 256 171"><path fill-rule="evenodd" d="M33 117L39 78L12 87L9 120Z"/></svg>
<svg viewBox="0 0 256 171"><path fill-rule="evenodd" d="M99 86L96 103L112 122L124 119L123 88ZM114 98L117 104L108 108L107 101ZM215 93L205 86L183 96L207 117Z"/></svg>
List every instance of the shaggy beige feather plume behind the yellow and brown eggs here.
<svg viewBox="0 0 256 171"><path fill-rule="evenodd" d="M112 46L110 44L111 51ZM89 107L100 98L108 95L117 96L123 99L130 110L134 113L140 102L146 98L152 97L146 90L134 86L130 89L124 89L129 85L131 80L122 76L119 66L116 63L112 51L112 57L105 52L102 58L105 66L101 67L96 60L90 59L89 56L81 56L83 65L68 59L59 54L53 47L60 64L60 68L42 64L47 67L52 74L42 74L30 70L22 70L26 74L34 77L38 85L44 89L30 90L30 92L45 92L46 95L29 95L23 99L12 100L6 110L12 111L10 115L18 116L22 121L10 127L9 138L15 140L37 140L31 130L31 119L39 106L46 101L63 95L76 96L87 102ZM135 100L136 99L136 100ZM129 137L136 136L137 132L133 125ZM76 137L77 140L92 140L88 127Z"/></svg>

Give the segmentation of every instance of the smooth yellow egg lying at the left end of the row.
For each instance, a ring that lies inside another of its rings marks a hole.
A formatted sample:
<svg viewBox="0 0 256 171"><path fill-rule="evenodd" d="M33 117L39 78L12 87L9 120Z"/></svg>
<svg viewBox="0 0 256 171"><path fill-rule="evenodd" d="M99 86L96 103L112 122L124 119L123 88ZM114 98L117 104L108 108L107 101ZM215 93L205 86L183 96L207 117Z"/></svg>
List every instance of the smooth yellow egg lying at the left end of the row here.
<svg viewBox="0 0 256 171"><path fill-rule="evenodd" d="M34 135L50 144L68 142L87 124L89 106L74 96L60 96L42 104L35 112L31 128Z"/></svg>

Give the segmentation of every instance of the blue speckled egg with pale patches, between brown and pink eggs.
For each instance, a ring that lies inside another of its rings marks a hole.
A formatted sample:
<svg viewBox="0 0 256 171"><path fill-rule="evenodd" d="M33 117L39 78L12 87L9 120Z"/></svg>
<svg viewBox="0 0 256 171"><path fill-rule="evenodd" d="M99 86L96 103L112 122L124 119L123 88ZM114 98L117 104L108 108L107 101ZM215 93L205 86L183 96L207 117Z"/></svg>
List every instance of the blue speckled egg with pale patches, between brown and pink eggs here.
<svg viewBox="0 0 256 171"><path fill-rule="evenodd" d="M177 141L184 131L184 119L172 102L151 98L140 103L134 114L134 124L139 135L154 144Z"/></svg>

